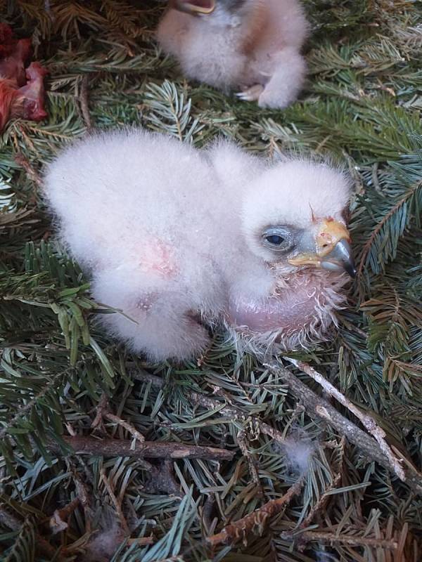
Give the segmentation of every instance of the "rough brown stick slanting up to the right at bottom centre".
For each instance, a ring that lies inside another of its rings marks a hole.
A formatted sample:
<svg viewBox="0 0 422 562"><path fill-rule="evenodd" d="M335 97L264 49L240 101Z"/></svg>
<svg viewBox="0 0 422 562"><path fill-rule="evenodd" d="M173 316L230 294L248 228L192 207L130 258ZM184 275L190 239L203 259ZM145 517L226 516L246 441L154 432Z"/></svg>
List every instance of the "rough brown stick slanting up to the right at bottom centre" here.
<svg viewBox="0 0 422 562"><path fill-rule="evenodd" d="M231 525L226 525L217 535L207 537L207 542L212 547L217 547L218 544L231 544L238 540L243 540L245 542L248 535L254 531L261 534L264 525L268 523L269 519L283 511L293 497L299 494L300 490L302 490L303 481L303 478L300 478L300 480L293 484L282 497L270 499L270 501L262 507L252 511L251 514L231 523Z"/></svg>

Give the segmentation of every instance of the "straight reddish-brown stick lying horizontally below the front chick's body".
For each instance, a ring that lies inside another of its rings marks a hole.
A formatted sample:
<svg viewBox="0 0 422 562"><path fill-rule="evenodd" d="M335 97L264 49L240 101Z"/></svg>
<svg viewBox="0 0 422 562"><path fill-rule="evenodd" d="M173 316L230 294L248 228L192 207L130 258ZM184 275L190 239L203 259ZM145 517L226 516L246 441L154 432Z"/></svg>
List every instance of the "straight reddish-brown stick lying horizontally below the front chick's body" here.
<svg viewBox="0 0 422 562"><path fill-rule="evenodd" d="M146 457L148 459L215 459L231 460L234 451L205 447L201 445L184 445L165 441L143 441L132 443L120 439L96 439L89 436L63 436L77 455L103 455L104 457ZM134 446L132 446L134 445ZM53 451L60 448L57 443L49 443Z"/></svg>

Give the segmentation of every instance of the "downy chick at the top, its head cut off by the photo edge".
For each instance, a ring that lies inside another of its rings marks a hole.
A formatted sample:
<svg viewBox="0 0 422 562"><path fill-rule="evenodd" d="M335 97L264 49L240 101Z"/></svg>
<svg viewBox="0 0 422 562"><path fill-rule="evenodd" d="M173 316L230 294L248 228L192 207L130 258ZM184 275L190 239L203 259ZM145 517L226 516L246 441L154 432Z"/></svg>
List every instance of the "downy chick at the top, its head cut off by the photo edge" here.
<svg viewBox="0 0 422 562"><path fill-rule="evenodd" d="M157 37L189 78L286 107L305 79L308 28L298 0L172 0Z"/></svg>

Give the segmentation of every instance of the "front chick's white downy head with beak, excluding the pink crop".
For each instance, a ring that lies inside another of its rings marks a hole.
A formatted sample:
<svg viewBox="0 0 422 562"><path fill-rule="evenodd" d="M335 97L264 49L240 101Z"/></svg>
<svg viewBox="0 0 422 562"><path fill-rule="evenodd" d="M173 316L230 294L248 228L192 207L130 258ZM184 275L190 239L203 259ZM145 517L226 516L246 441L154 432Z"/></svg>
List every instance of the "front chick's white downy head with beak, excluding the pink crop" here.
<svg viewBox="0 0 422 562"><path fill-rule="evenodd" d="M304 268L355 274L344 211L350 180L327 164L291 160L267 169L243 204L250 250L280 275Z"/></svg>

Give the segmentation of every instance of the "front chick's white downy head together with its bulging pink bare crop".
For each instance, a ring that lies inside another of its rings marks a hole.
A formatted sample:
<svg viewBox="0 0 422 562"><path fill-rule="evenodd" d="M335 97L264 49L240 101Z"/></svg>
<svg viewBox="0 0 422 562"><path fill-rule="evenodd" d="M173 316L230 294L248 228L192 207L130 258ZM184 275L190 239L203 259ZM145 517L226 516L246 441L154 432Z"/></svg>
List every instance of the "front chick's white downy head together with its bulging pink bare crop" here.
<svg viewBox="0 0 422 562"><path fill-rule="evenodd" d="M264 297L233 294L228 318L252 348L307 347L336 321L341 289L355 274L343 216L350 187L342 172L302 160L281 162L250 185L245 244L271 271L274 286Z"/></svg>

